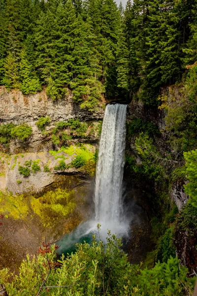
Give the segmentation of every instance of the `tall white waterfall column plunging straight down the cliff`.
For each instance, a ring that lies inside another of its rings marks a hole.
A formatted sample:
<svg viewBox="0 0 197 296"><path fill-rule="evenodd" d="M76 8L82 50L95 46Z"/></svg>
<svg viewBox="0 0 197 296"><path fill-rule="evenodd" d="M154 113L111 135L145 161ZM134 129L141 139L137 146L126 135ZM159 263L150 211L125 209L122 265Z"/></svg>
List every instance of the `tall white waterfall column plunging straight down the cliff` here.
<svg viewBox="0 0 197 296"><path fill-rule="evenodd" d="M96 171L96 222L104 232L122 234L126 231L122 201L122 181L125 164L127 105L107 105L99 143Z"/></svg>

